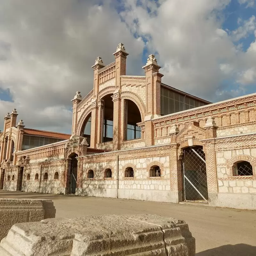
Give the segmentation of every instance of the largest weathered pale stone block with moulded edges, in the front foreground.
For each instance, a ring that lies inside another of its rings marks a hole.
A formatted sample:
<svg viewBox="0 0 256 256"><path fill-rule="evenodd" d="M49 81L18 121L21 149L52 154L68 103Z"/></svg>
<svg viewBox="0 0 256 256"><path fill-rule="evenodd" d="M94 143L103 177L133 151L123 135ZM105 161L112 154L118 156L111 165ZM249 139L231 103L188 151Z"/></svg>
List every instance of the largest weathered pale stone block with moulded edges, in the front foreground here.
<svg viewBox="0 0 256 256"><path fill-rule="evenodd" d="M156 215L96 215L12 226L0 255L194 256L195 238L183 220Z"/></svg>

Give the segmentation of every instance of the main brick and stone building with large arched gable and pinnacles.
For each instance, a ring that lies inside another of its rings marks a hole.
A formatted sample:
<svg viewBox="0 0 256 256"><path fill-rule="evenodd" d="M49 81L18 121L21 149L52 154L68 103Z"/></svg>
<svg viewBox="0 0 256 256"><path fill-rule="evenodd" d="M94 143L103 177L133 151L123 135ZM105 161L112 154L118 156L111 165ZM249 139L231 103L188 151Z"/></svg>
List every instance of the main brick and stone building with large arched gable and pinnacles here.
<svg viewBox="0 0 256 256"><path fill-rule="evenodd" d="M70 139L9 154L4 189L256 209L256 93L210 103L163 84L154 55L145 76L113 55L72 100Z"/></svg>

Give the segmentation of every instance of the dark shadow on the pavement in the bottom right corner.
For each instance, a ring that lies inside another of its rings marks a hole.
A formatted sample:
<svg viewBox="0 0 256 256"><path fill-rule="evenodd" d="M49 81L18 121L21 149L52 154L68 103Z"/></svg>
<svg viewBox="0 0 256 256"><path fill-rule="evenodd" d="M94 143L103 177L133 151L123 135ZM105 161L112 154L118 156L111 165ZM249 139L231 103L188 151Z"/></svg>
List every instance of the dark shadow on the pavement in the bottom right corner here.
<svg viewBox="0 0 256 256"><path fill-rule="evenodd" d="M255 240L256 243L256 240ZM256 246L249 244L227 244L196 253L196 256L255 256Z"/></svg>

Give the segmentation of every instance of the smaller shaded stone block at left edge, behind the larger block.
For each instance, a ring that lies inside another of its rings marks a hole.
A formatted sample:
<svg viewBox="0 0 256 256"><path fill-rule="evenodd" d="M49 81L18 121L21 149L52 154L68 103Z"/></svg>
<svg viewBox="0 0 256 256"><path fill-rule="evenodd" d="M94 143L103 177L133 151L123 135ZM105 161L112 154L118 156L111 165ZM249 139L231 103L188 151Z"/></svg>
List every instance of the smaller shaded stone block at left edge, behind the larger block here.
<svg viewBox="0 0 256 256"><path fill-rule="evenodd" d="M0 240L15 223L54 218L55 213L51 200L0 198Z"/></svg>

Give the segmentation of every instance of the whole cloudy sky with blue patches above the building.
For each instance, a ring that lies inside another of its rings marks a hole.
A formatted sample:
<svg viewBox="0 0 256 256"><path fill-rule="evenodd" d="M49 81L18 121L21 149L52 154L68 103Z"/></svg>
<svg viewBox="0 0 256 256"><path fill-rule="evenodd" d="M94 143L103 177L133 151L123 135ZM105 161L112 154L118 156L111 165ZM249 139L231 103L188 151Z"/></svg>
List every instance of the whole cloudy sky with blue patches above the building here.
<svg viewBox="0 0 256 256"><path fill-rule="evenodd" d="M256 0L0 0L0 129L71 132L76 91L123 43L127 75L155 54L162 82L211 102L256 92ZM2 128L3 129L3 128Z"/></svg>

